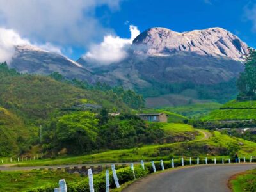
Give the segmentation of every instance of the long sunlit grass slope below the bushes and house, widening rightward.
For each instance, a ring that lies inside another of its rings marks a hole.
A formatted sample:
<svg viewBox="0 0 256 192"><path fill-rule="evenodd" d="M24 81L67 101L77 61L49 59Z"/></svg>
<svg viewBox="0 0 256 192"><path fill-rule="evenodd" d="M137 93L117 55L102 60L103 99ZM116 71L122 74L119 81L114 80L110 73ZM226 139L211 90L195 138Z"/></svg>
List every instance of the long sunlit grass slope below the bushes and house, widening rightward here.
<svg viewBox="0 0 256 192"><path fill-rule="evenodd" d="M169 125L167 127L167 125ZM165 131L172 134L175 132L196 131L190 125L185 124L167 124L164 127ZM239 156L255 156L256 143L246 141L239 138L233 138L220 132L209 132L204 130L197 130L200 132L194 140L181 141L177 143L164 143L162 145L145 145L143 147L123 149L123 150L109 150L106 152L99 152L97 154L76 156L76 157L58 157L57 159L43 159L35 161L26 161L15 164L15 166L46 166L58 164L90 164L90 163L123 163L152 160L170 160L172 157L218 157L229 156L228 148L234 144L239 147L237 152ZM210 138L205 138L204 134L210 134ZM17 163L17 162L16 162ZM13 163L14 164L14 163Z"/></svg>

